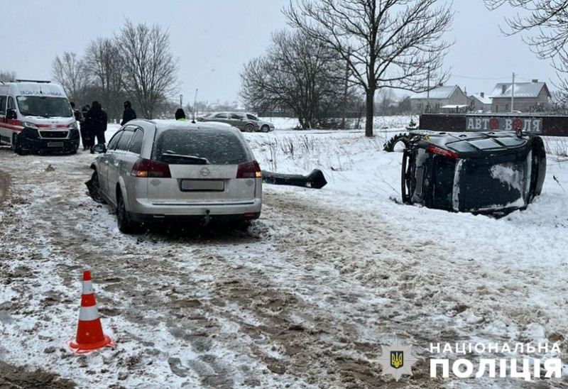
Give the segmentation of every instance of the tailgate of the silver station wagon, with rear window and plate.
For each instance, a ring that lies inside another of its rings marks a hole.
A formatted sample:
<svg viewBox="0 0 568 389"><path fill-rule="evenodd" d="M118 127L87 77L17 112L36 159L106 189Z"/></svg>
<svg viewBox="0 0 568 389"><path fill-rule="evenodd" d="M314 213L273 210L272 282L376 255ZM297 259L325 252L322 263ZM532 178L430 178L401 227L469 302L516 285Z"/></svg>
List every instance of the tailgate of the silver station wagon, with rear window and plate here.
<svg viewBox="0 0 568 389"><path fill-rule="evenodd" d="M236 130L165 131L153 158L169 165L171 177L148 185L148 198L154 204L252 202L257 182L243 142Z"/></svg>

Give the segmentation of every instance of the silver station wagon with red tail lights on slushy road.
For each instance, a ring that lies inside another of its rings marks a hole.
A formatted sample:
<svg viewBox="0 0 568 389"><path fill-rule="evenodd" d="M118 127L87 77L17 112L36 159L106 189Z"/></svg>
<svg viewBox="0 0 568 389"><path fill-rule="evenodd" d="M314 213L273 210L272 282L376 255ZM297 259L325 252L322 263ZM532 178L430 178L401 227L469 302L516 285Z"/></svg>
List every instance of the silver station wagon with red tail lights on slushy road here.
<svg viewBox="0 0 568 389"><path fill-rule="evenodd" d="M125 234L156 220L246 224L261 214L261 168L234 127L129 121L91 168L89 192L116 209Z"/></svg>

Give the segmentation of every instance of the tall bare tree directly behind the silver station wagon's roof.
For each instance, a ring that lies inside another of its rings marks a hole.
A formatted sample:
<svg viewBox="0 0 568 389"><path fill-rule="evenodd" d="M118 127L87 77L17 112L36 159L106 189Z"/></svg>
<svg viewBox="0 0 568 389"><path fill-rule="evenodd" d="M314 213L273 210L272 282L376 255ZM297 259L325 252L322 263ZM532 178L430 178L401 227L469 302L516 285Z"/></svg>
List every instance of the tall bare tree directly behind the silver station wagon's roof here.
<svg viewBox="0 0 568 389"><path fill-rule="evenodd" d="M170 35L158 25L134 26L126 21L115 38L126 72L126 92L135 97L141 114L152 119L158 102L178 87L178 60L170 52Z"/></svg>

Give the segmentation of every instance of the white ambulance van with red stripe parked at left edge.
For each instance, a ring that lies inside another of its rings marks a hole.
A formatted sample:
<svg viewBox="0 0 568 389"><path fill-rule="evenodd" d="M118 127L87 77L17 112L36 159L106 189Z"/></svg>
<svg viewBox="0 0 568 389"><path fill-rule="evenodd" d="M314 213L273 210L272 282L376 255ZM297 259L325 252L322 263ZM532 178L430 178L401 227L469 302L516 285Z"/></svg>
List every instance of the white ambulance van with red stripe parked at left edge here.
<svg viewBox="0 0 568 389"><path fill-rule="evenodd" d="M63 88L50 81L0 82L0 145L18 153L77 153L80 133Z"/></svg>

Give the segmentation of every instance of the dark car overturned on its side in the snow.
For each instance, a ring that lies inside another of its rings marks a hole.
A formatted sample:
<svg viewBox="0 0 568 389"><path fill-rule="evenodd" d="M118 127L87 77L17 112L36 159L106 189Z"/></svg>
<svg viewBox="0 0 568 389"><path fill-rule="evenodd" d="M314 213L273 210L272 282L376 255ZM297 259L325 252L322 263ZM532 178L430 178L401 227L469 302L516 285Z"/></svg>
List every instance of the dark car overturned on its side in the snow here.
<svg viewBox="0 0 568 389"><path fill-rule="evenodd" d="M508 214L540 195L546 174L542 138L515 131L411 131L403 152L407 204L454 212Z"/></svg>

